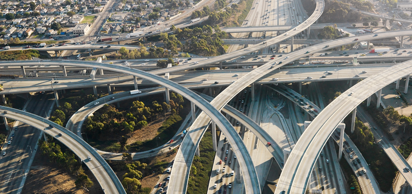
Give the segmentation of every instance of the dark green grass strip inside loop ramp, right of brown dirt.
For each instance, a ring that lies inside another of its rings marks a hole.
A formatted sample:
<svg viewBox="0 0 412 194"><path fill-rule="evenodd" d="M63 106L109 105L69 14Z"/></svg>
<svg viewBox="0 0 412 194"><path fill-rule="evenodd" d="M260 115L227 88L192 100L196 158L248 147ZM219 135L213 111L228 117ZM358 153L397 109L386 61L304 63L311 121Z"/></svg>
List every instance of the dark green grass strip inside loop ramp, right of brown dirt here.
<svg viewBox="0 0 412 194"><path fill-rule="evenodd" d="M176 134L182 123L183 119L182 117L180 117L180 115L169 116L169 118L167 118L163 122L162 127L159 127L159 129L157 129L159 134L154 139L148 139L146 141L135 141L130 146L128 146L129 151L143 152L157 148L159 147L159 145L167 143L170 138Z"/></svg>

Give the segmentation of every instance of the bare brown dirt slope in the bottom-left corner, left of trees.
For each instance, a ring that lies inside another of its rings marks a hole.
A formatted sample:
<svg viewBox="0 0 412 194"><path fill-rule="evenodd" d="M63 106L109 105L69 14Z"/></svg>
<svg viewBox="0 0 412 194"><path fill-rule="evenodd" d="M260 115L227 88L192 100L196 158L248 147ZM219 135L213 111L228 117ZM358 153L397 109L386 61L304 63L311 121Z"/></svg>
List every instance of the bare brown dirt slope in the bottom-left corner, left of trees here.
<svg viewBox="0 0 412 194"><path fill-rule="evenodd" d="M90 173L89 169L85 169L84 173L93 181L93 187L89 188L89 192L84 189L76 188L75 181L77 177L69 174L59 166L49 162L47 156L42 156L37 152L30 172L26 178L21 193L45 193L45 194L101 194L103 190L98 184L96 178Z"/></svg>

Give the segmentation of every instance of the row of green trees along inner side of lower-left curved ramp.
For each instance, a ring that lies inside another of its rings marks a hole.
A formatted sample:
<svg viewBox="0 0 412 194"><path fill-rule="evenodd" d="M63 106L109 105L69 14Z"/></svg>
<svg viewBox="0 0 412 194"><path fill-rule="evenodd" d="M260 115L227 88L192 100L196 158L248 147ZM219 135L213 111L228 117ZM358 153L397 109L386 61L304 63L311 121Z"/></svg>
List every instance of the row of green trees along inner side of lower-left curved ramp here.
<svg viewBox="0 0 412 194"><path fill-rule="evenodd" d="M77 188L83 188L89 191L87 188L94 185L90 178L84 173L84 169L72 151L62 152L61 147L57 143L54 143L53 139L49 139L49 142L39 140L38 145L42 151L42 155L47 155L50 162L57 164L69 173L77 176L77 180L75 181Z"/></svg>

